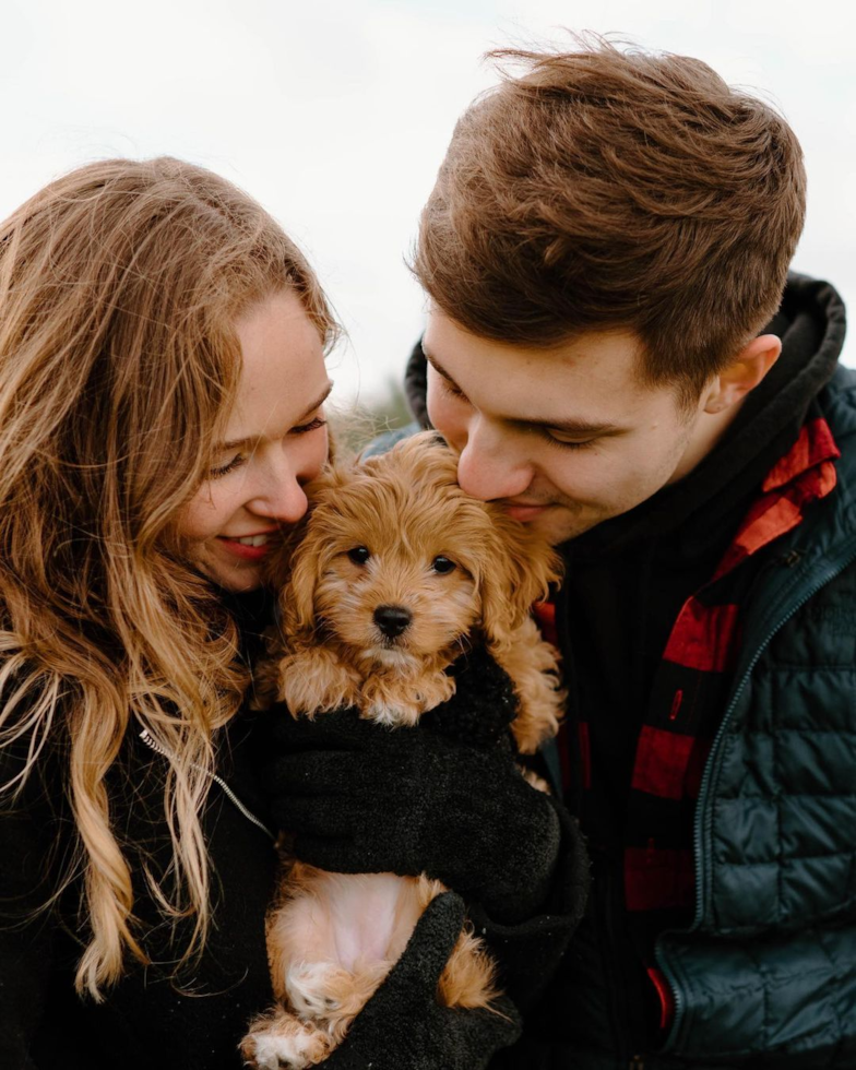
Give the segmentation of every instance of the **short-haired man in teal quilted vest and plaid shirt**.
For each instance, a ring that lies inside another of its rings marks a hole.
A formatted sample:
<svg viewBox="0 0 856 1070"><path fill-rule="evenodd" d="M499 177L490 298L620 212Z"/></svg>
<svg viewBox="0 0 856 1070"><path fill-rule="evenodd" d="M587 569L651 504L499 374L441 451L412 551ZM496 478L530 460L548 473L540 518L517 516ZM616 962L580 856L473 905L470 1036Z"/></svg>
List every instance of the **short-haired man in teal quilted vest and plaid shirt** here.
<svg viewBox="0 0 856 1070"><path fill-rule="evenodd" d="M839 296L787 278L798 142L697 60L498 58L522 71L465 112L423 214L407 383L463 489L561 546L545 758L588 907L571 938L564 811L487 751L419 763L404 734L384 769L415 801L354 787L384 781L377 744L338 795L325 756L300 760L319 817L298 854L468 899L524 1012L491 1068L853 1068L856 377Z"/></svg>

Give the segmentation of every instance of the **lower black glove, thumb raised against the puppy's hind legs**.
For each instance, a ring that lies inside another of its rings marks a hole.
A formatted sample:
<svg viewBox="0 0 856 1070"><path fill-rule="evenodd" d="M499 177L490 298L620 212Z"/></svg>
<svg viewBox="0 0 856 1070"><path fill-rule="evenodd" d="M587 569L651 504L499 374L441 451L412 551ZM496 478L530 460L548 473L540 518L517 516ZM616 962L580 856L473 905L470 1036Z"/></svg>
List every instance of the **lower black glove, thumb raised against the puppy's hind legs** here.
<svg viewBox="0 0 856 1070"><path fill-rule="evenodd" d="M510 1000L495 1011L461 1010L437 1002L437 983L464 920L454 892L429 903L404 954L354 1020L326 1070L479 1070L520 1036Z"/></svg>

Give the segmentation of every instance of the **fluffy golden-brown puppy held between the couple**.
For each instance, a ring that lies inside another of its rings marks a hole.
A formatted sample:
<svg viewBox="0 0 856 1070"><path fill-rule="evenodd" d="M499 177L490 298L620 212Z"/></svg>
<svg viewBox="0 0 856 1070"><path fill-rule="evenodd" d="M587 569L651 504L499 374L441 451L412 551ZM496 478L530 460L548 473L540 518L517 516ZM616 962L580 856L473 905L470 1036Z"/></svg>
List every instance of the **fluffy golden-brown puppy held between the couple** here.
<svg viewBox="0 0 856 1070"><path fill-rule="evenodd" d="M278 562L290 568L281 595L285 649L260 685L292 715L356 706L390 727L413 726L454 693L452 662L484 643L514 685L519 750L532 753L555 735L563 698L556 652L530 609L559 579L558 558L501 509L465 495L456 472L454 454L426 432L333 467L308 488L302 540ZM268 927L280 1004L252 1023L245 1059L265 1070L323 1060L442 891L426 877L294 863ZM489 1007L494 974L464 931L438 998Z"/></svg>

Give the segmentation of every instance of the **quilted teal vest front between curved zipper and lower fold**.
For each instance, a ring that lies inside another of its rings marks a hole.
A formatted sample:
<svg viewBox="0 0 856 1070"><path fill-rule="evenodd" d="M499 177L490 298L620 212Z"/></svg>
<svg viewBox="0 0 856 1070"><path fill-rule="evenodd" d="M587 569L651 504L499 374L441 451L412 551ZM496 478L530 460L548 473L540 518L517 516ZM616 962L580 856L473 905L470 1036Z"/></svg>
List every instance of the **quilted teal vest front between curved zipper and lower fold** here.
<svg viewBox="0 0 856 1070"><path fill-rule="evenodd" d="M856 567L761 655L713 790L702 929L747 936L856 917Z"/></svg>

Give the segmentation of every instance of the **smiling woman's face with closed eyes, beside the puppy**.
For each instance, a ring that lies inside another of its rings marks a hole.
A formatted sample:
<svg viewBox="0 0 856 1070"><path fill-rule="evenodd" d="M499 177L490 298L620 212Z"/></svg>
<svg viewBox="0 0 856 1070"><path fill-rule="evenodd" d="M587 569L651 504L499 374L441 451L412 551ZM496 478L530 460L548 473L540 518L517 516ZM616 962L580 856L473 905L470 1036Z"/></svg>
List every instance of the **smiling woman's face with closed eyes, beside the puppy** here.
<svg viewBox="0 0 856 1070"><path fill-rule="evenodd" d="M322 406L333 384L318 329L294 294L266 298L236 330L243 357L238 395L178 533L189 560L237 592L261 585L282 528L306 512L304 484L326 457Z"/></svg>

